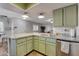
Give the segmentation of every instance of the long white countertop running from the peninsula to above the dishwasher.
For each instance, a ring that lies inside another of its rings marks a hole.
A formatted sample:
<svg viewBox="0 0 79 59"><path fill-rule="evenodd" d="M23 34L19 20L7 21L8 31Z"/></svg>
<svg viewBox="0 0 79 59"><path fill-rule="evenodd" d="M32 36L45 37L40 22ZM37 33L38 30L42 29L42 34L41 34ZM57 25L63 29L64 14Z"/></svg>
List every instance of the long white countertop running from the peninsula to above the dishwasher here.
<svg viewBox="0 0 79 59"><path fill-rule="evenodd" d="M15 34L15 35L11 36L10 38L16 39L16 38L27 37L27 36L32 36L32 35L41 36L41 37L49 37L52 39L79 41L78 40L79 38L74 38L74 37L70 37L70 36L69 37L68 36L55 36L55 35L50 36L49 33L19 33L19 34Z"/></svg>

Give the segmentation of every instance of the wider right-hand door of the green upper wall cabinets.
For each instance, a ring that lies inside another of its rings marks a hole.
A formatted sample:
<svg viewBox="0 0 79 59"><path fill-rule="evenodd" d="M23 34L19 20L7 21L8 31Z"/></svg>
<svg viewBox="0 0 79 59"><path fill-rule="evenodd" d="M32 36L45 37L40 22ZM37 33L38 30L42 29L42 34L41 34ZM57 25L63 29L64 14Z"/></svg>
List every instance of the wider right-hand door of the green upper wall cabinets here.
<svg viewBox="0 0 79 59"><path fill-rule="evenodd" d="M72 5L64 8L64 26L75 27L78 22L77 5Z"/></svg>

